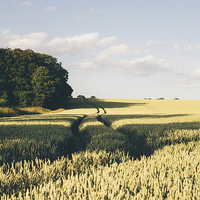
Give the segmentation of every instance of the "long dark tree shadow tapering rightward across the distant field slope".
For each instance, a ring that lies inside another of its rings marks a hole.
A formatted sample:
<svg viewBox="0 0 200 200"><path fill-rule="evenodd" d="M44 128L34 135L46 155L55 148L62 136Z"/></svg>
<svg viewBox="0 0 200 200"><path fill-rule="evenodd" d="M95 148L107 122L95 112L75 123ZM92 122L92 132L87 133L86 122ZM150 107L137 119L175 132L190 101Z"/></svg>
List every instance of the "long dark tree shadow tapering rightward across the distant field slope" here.
<svg viewBox="0 0 200 200"><path fill-rule="evenodd" d="M89 101L95 103L103 108L124 108L129 106L142 106L145 103L126 103L126 102L107 102L101 99L92 99L89 98ZM86 104L84 99L82 98L72 98L68 101L67 108L68 109L76 109L76 108L91 108L92 106Z"/></svg>

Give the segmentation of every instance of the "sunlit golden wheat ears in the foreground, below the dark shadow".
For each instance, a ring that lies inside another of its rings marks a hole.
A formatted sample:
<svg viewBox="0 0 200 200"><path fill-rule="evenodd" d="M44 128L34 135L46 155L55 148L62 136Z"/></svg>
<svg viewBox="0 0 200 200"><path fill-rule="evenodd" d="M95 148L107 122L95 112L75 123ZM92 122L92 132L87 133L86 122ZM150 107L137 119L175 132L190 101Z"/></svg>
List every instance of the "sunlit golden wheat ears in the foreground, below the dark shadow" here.
<svg viewBox="0 0 200 200"><path fill-rule="evenodd" d="M18 197L4 193L1 199L199 199L199 149L200 142L191 142L166 146L141 160L121 155L120 163L107 165L114 154L100 151L73 155L72 161L37 161L33 170L31 163L6 172L2 167L2 186L22 177L31 184Z"/></svg>

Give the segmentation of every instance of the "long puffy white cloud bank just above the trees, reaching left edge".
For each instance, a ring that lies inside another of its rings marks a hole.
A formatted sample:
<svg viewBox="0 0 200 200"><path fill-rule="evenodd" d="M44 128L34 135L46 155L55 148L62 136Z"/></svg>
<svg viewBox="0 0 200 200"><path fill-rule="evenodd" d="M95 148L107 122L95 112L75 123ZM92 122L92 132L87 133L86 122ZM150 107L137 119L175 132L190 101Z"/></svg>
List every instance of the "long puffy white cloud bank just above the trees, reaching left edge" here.
<svg viewBox="0 0 200 200"><path fill-rule="evenodd" d="M88 33L73 37L56 37L47 40L46 33L30 33L27 35L17 35L11 33L9 29L0 30L0 44L4 47L33 49L38 52L50 54L79 54L92 48L107 47L117 41L115 36L99 39L99 33Z"/></svg>

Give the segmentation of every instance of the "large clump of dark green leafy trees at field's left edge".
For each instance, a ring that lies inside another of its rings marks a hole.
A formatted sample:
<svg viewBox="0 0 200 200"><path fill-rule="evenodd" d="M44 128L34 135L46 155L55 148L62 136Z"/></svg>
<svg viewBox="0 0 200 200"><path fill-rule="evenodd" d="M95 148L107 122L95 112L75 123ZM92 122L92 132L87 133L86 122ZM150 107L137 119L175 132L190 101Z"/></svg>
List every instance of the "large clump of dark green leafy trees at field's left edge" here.
<svg viewBox="0 0 200 200"><path fill-rule="evenodd" d="M67 81L68 71L50 55L0 48L0 99L4 106L58 108L73 91Z"/></svg>

